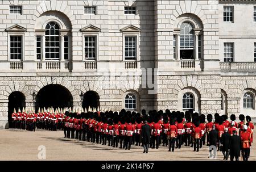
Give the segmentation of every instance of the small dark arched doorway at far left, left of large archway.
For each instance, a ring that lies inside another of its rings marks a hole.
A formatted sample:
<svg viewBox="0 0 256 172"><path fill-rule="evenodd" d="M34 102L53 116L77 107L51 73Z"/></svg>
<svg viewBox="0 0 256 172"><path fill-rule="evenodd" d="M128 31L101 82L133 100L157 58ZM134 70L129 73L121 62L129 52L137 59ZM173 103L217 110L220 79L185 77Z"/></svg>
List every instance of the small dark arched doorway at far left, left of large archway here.
<svg viewBox="0 0 256 172"><path fill-rule="evenodd" d="M14 108L16 112L18 112L18 109L22 110L22 108L26 107L25 104L25 96L20 91L14 91L9 95L9 102L8 102L8 121L9 121L9 128L13 128L11 126L11 114L13 114Z"/></svg>

